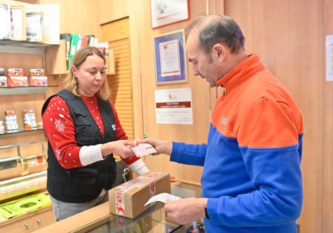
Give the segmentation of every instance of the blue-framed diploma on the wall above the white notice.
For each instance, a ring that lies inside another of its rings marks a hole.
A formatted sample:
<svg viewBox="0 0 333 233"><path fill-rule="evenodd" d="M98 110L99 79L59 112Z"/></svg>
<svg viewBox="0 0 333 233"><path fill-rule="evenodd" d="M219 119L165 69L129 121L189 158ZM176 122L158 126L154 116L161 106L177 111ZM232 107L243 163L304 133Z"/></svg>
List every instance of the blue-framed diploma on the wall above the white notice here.
<svg viewBox="0 0 333 233"><path fill-rule="evenodd" d="M184 30L154 37L156 84L188 82Z"/></svg>

